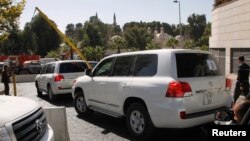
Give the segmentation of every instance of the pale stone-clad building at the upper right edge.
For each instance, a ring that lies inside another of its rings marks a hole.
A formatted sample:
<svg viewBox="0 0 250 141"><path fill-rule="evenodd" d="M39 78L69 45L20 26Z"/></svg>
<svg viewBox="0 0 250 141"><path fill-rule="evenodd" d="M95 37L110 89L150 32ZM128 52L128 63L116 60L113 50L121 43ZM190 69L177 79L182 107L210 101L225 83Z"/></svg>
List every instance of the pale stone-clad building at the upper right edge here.
<svg viewBox="0 0 250 141"><path fill-rule="evenodd" d="M210 51L225 74L236 73L238 56L250 64L250 0L214 0Z"/></svg>

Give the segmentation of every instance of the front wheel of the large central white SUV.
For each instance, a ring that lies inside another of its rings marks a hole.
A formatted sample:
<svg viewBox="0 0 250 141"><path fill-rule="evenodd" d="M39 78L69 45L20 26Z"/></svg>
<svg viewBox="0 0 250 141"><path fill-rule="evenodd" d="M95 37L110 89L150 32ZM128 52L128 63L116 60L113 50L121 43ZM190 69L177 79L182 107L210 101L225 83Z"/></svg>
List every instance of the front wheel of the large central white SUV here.
<svg viewBox="0 0 250 141"><path fill-rule="evenodd" d="M92 110L88 108L82 91L77 91L74 99L74 107L81 117L89 117Z"/></svg>

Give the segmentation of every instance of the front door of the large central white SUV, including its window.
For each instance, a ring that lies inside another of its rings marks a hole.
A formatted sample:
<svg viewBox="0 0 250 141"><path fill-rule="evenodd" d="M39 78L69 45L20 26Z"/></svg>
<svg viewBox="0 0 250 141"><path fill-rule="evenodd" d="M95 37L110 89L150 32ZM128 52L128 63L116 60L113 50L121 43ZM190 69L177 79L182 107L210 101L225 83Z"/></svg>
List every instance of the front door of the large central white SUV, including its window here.
<svg viewBox="0 0 250 141"><path fill-rule="evenodd" d="M103 60L93 71L91 82L87 84L85 91L89 105L93 105L102 109L107 109L107 79L112 73L114 58Z"/></svg>

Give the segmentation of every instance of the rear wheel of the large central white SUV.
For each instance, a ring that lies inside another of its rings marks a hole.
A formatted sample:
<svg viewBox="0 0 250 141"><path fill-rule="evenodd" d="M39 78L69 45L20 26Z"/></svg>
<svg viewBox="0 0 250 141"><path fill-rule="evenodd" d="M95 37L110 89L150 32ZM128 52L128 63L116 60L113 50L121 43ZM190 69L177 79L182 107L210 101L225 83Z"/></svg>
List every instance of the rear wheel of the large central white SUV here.
<svg viewBox="0 0 250 141"><path fill-rule="evenodd" d="M141 103L133 103L126 114L127 128L130 134L140 141L150 139L155 127L150 119L147 108Z"/></svg>

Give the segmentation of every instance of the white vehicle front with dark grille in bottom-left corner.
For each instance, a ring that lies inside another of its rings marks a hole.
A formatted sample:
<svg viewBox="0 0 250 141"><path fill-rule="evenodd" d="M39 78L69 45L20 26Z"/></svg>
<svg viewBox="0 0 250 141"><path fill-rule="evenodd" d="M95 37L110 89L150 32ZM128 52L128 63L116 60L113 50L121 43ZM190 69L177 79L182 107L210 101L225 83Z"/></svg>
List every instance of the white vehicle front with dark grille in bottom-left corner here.
<svg viewBox="0 0 250 141"><path fill-rule="evenodd" d="M0 96L0 141L54 141L43 109L33 100Z"/></svg>

